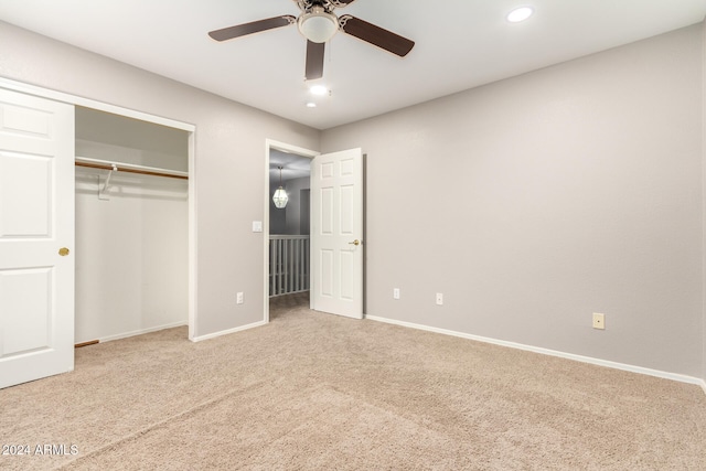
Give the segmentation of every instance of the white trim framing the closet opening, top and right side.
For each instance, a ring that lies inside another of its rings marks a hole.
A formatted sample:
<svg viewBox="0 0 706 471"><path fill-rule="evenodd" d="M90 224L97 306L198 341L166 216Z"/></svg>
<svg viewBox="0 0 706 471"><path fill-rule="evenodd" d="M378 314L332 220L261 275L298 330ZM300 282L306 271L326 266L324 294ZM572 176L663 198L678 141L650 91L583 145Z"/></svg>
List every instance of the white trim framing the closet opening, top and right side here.
<svg viewBox="0 0 706 471"><path fill-rule="evenodd" d="M139 119L141 121L152 122L156 125L167 126L169 128L180 129L189 132L189 340L196 338L196 179L195 179L195 132L194 125L176 121L161 116L150 115L121 106L109 105L95 99L84 98L76 95L56 92L50 88L29 85L22 82L12 81L0 77L0 88L33 95L41 98L47 98L55 101L66 103L68 105L82 106L99 111L106 111L127 118ZM74 311L74 318L76 313Z"/></svg>

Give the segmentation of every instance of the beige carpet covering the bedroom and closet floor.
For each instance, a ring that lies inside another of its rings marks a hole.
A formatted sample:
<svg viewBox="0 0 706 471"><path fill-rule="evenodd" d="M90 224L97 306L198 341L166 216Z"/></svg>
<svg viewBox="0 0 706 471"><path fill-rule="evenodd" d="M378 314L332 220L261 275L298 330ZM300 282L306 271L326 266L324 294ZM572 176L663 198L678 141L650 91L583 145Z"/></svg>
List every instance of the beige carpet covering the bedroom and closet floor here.
<svg viewBox="0 0 706 471"><path fill-rule="evenodd" d="M0 390L0 443L31 451L0 469L706 470L698 386L300 301L205 342L83 347L75 372Z"/></svg>

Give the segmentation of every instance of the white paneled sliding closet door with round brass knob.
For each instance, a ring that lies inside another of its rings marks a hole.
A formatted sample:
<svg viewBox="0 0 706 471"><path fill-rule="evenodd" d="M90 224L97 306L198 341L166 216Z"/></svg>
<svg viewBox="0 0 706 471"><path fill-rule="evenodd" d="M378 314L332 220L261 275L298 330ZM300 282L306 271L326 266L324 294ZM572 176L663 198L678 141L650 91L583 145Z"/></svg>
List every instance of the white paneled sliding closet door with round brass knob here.
<svg viewBox="0 0 706 471"><path fill-rule="evenodd" d="M74 368L74 107L0 89L0 387Z"/></svg>

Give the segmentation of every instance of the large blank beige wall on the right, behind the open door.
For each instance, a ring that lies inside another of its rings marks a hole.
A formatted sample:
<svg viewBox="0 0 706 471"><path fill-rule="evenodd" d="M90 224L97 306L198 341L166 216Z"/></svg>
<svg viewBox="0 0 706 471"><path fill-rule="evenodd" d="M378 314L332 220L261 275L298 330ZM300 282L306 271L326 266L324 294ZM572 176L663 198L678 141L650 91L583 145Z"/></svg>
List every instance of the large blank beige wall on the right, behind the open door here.
<svg viewBox="0 0 706 471"><path fill-rule="evenodd" d="M702 87L696 25L324 131L366 313L702 377Z"/></svg>

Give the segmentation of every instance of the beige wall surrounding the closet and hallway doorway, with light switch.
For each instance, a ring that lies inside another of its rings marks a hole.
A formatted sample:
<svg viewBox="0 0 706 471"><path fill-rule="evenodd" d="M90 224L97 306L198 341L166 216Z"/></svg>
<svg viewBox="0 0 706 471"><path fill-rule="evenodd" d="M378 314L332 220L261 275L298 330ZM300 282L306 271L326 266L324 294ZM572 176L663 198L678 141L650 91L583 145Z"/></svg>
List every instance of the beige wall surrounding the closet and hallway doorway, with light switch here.
<svg viewBox="0 0 706 471"><path fill-rule="evenodd" d="M264 319L264 233L252 222L264 220L265 141L318 149L318 130L1 22L0 76L195 125L195 334Z"/></svg>

